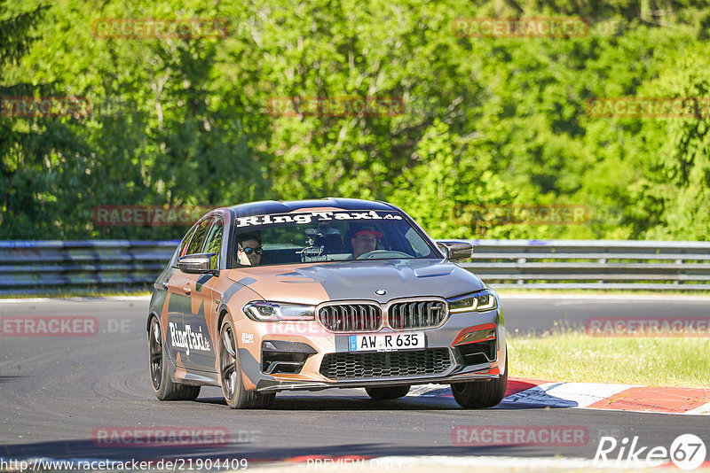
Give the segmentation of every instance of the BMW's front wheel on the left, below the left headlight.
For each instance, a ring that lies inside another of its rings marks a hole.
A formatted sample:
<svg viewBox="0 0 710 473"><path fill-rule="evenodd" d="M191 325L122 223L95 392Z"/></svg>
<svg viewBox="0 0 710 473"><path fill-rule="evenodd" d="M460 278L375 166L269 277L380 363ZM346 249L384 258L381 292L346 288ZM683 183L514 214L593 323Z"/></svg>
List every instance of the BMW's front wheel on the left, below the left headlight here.
<svg viewBox="0 0 710 473"><path fill-rule="evenodd" d="M227 406L233 409L268 409L276 393L263 394L244 389L238 353L232 321L227 316L219 330L219 374Z"/></svg>

